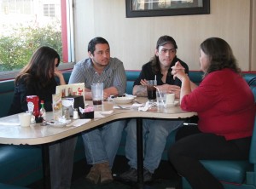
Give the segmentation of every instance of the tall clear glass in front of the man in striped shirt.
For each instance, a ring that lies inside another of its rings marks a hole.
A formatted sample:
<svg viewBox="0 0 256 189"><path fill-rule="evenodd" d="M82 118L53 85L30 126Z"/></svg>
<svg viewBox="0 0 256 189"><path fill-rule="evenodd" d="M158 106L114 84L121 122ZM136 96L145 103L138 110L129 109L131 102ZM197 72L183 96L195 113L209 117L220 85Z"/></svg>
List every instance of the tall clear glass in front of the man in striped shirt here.
<svg viewBox="0 0 256 189"><path fill-rule="evenodd" d="M91 85L91 97L92 97L92 102L93 105L102 105L102 100L103 100L103 88L104 85L103 83L93 83Z"/></svg>

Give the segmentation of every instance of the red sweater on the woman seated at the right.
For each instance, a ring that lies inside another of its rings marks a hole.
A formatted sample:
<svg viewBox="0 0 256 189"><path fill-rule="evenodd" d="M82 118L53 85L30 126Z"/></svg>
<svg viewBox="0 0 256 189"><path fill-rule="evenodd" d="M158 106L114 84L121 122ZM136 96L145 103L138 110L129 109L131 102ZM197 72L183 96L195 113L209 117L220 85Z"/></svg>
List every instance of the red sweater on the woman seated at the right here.
<svg viewBox="0 0 256 189"><path fill-rule="evenodd" d="M203 133L223 135L226 140L253 133L253 93L243 77L230 69L209 73L198 88L183 97L181 108L198 112Z"/></svg>

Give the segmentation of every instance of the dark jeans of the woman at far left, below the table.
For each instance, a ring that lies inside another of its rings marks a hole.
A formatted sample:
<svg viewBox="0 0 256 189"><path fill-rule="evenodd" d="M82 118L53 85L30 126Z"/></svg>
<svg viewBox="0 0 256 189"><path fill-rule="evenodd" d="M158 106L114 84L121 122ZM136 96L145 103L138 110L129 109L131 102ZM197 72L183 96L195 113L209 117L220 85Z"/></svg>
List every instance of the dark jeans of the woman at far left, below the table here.
<svg viewBox="0 0 256 189"><path fill-rule="evenodd" d="M50 182L53 189L68 189L73 173L73 154L77 136L49 145Z"/></svg>

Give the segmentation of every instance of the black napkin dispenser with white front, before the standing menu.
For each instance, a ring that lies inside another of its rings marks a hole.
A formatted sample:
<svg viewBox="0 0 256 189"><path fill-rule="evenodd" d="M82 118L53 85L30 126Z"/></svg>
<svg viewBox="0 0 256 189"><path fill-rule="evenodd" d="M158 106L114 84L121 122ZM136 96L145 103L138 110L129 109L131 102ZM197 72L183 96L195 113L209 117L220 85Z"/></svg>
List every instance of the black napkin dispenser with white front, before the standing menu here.
<svg viewBox="0 0 256 189"><path fill-rule="evenodd" d="M82 95L64 96L61 98L62 106L68 107L69 114L73 116L73 109L82 107L84 109L84 97Z"/></svg>

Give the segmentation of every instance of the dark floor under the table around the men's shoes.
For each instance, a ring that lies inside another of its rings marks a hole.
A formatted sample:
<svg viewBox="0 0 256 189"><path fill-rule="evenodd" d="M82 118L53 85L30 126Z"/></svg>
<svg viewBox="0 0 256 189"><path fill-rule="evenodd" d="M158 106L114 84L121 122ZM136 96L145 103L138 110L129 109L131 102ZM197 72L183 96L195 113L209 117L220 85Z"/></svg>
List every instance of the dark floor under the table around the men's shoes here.
<svg viewBox="0 0 256 189"><path fill-rule="evenodd" d="M129 169L125 157L118 156L113 165L113 174L120 174L126 169ZM137 185L131 183L121 183L114 180L108 184L91 184L85 180L85 175L89 172L90 167L85 163L85 160L74 165L73 169L73 185L71 189L137 189ZM161 162L159 169L154 173L154 181L146 183L144 189L173 189L179 183L179 176L172 169L168 162ZM42 180L29 186L32 189L43 189Z"/></svg>

